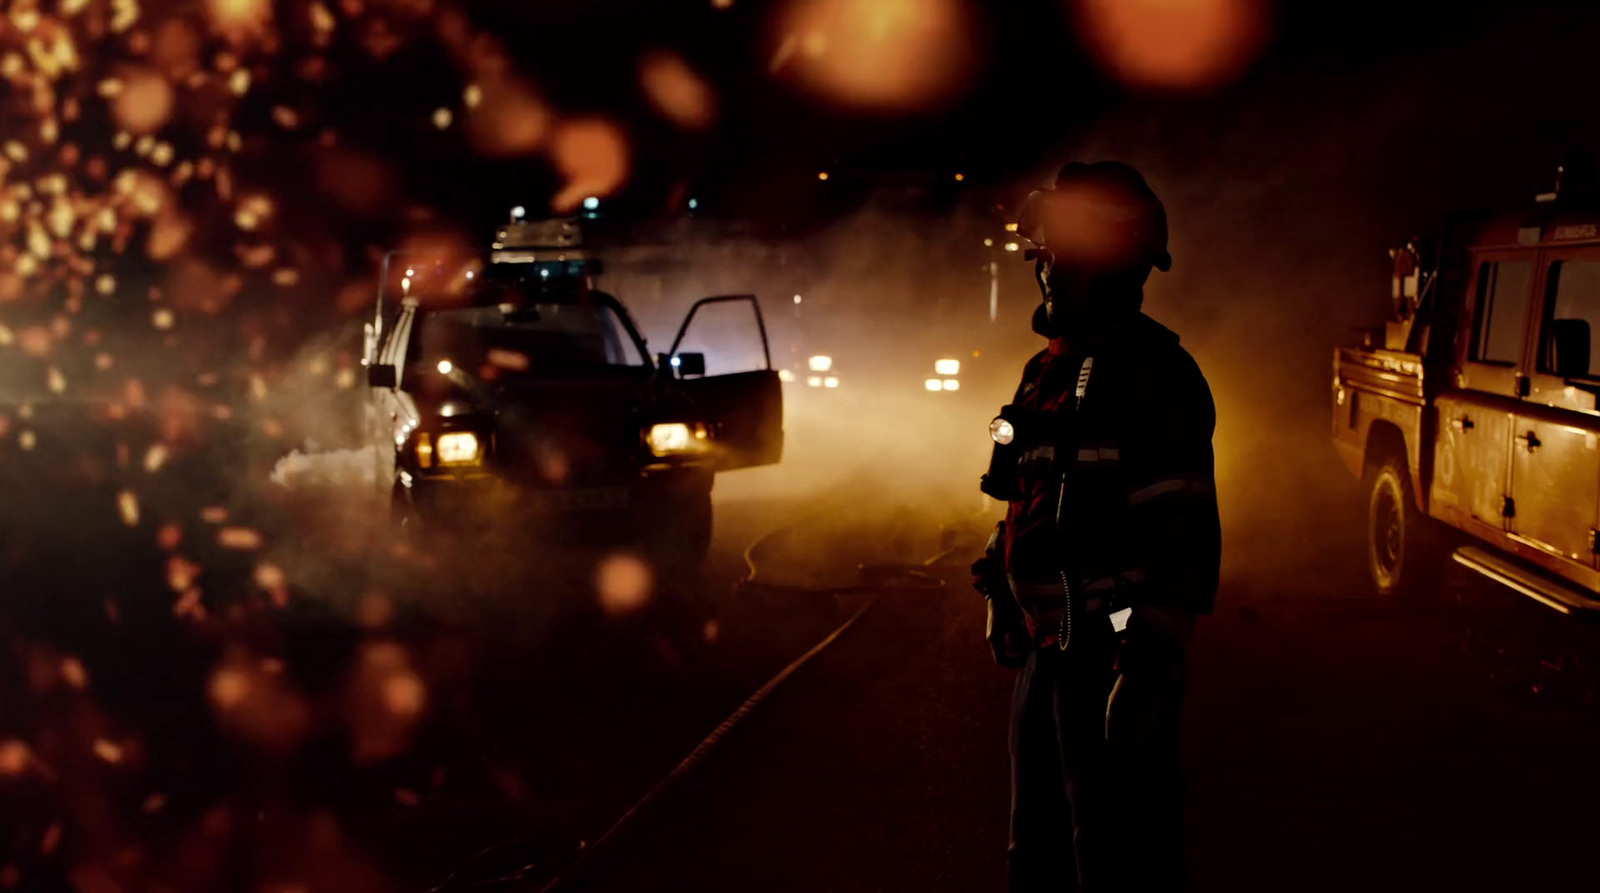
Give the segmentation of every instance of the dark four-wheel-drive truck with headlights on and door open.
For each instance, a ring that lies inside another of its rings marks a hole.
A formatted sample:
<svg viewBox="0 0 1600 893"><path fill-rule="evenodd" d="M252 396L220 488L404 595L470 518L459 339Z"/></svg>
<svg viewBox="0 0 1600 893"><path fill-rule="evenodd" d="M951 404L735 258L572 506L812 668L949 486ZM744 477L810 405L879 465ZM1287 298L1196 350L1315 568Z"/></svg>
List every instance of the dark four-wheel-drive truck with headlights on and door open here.
<svg viewBox="0 0 1600 893"><path fill-rule="evenodd" d="M651 357L571 221L504 227L486 258L390 256L368 325L368 424L395 520L488 517L534 539L622 535L698 563L717 472L782 455L782 387L750 294L706 298ZM403 275L402 275L403 274ZM387 298L398 277L400 301ZM747 306L766 368L678 352L707 304Z"/></svg>

